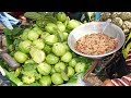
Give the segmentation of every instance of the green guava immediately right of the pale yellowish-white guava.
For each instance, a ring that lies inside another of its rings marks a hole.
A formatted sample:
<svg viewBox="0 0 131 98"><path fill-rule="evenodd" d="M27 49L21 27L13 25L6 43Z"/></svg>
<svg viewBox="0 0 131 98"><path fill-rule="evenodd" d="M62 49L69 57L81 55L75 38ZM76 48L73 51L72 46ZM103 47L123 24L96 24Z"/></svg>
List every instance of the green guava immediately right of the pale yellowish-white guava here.
<svg viewBox="0 0 131 98"><path fill-rule="evenodd" d="M49 53L49 54L46 57L46 62L47 62L48 64L56 64L58 61L59 61L59 58L56 57L56 56L52 54L52 53Z"/></svg>

